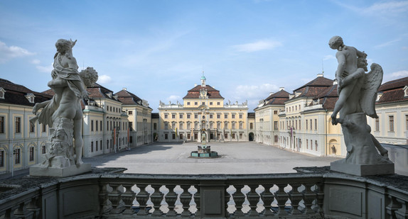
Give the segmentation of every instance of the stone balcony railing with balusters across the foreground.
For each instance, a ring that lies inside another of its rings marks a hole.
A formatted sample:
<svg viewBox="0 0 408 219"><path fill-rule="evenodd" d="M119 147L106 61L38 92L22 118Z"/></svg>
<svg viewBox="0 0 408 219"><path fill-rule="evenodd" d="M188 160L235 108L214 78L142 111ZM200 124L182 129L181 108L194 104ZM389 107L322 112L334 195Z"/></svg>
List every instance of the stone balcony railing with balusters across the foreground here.
<svg viewBox="0 0 408 219"><path fill-rule="evenodd" d="M408 177L122 174L0 185L0 218L407 218Z"/></svg>

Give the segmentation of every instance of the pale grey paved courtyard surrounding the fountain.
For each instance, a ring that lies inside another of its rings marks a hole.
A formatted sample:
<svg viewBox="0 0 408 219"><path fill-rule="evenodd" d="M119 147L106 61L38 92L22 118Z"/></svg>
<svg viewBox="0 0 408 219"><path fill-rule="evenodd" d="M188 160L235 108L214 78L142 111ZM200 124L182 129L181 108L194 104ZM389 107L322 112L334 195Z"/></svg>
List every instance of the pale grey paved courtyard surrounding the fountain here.
<svg viewBox="0 0 408 219"><path fill-rule="evenodd" d="M125 167L139 174L270 174L296 172L294 167L322 167L339 157L313 157L255 142L211 142L220 158L189 158L198 142L161 143L111 155L84 158L92 167Z"/></svg>

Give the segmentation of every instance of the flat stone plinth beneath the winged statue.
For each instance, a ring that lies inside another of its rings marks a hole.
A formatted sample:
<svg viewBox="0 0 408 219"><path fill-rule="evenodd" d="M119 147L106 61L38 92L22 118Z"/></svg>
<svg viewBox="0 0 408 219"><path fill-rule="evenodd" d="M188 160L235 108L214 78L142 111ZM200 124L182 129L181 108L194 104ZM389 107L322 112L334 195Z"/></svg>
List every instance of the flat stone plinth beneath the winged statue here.
<svg viewBox="0 0 408 219"><path fill-rule="evenodd" d="M330 163L330 170L355 176L394 174L394 164L348 164L344 159Z"/></svg>

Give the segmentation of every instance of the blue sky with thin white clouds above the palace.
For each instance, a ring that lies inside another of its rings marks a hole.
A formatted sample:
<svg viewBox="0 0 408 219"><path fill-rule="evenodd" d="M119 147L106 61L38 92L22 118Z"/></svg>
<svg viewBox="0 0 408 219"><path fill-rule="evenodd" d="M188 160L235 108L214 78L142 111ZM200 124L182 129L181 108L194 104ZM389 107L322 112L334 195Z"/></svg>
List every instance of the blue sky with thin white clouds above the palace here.
<svg viewBox="0 0 408 219"><path fill-rule="evenodd" d="M77 40L80 69L149 101L183 101L200 84L249 111L269 92L334 79L333 35L408 76L408 1L0 1L0 78L48 89L55 42Z"/></svg>

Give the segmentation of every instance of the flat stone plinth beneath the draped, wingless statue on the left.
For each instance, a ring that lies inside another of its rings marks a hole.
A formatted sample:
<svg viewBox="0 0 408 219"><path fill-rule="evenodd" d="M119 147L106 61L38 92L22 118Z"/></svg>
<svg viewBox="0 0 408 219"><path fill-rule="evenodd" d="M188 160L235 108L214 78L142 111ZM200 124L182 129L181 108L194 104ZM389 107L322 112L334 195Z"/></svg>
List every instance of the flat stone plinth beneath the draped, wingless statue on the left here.
<svg viewBox="0 0 408 219"><path fill-rule="evenodd" d="M36 164L30 167L30 176L67 177L76 176L91 171L91 164L82 164L80 167L72 165L65 168L41 167Z"/></svg>

